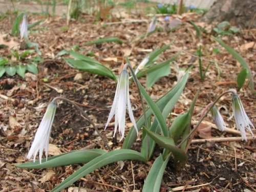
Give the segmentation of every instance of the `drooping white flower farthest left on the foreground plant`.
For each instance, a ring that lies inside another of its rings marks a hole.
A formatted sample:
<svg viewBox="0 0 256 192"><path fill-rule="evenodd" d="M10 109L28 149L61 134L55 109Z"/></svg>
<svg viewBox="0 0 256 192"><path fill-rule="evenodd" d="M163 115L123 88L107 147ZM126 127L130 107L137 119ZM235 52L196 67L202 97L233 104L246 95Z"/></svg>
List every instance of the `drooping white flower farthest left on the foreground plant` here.
<svg viewBox="0 0 256 192"><path fill-rule="evenodd" d="M42 121L36 131L34 141L30 147L30 150L27 156L28 159L34 156L34 162L35 162L35 157L39 151L39 161L41 163L42 152L44 151L44 148L45 148L45 155L47 160L49 139L50 139L52 123L54 120L55 112L56 112L56 102L49 103L49 105L47 106L46 113L42 118Z"/></svg>

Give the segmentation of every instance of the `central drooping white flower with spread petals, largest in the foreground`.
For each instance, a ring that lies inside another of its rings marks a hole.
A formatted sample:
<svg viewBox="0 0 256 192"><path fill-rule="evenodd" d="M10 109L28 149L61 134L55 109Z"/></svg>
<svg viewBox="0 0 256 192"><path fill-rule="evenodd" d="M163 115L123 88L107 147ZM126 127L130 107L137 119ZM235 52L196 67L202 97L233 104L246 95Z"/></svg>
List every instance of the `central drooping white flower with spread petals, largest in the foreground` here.
<svg viewBox="0 0 256 192"><path fill-rule="evenodd" d="M122 140L124 137L126 105L128 108L129 117L138 134L138 129L137 129L136 121L133 116L132 105L131 105L130 95L129 95L129 74L126 71L126 66L125 66L119 76L113 105L110 111L108 121L106 122L106 126L105 126L105 129L106 129L106 127L110 123L110 120L115 115L114 136L116 134L117 127L118 127L119 134L122 136L120 140Z"/></svg>

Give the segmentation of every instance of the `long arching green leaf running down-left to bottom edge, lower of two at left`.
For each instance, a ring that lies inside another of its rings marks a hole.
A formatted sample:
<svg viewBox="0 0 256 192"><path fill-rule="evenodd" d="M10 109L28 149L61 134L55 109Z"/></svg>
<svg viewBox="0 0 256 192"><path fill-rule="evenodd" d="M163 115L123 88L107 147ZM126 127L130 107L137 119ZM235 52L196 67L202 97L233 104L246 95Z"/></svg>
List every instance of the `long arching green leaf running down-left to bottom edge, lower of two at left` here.
<svg viewBox="0 0 256 192"><path fill-rule="evenodd" d="M98 169L104 165L122 161L122 160L137 160L145 162L145 158L138 152L133 150L116 150L105 153L95 159L91 160L86 165L83 165L79 168L74 174L65 179L57 187L51 190L51 192L57 192L73 184L78 179L84 177L85 175L93 172L95 169Z"/></svg>

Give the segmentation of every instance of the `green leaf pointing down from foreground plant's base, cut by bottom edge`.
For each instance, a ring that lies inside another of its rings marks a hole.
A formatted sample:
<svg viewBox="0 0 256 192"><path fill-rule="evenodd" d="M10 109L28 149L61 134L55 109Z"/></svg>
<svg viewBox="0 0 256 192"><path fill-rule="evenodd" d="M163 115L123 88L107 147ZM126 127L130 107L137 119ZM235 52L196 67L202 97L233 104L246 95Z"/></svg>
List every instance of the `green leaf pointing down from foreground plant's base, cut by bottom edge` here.
<svg viewBox="0 0 256 192"><path fill-rule="evenodd" d="M157 192L160 190L163 173L169 158L170 156L168 156L164 161L161 154L156 158L150 169L150 173L148 173L146 177L142 192Z"/></svg>

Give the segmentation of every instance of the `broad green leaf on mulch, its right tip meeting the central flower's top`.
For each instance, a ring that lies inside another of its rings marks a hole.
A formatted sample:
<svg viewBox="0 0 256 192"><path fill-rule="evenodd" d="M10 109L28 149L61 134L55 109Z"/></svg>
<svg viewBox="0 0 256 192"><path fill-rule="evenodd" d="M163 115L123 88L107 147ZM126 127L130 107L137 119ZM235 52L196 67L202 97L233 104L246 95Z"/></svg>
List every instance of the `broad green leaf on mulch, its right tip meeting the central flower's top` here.
<svg viewBox="0 0 256 192"><path fill-rule="evenodd" d="M84 60L74 60L74 59L70 59L70 58L63 58L63 59L72 68L76 68L76 69L86 71L89 73L93 73L93 74L97 74L97 75L106 76L106 77L116 80L116 77L112 73L112 71L101 64L92 63L92 62L88 62L88 61L84 61Z"/></svg>

